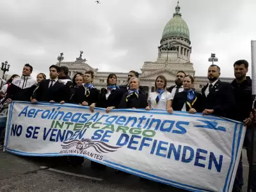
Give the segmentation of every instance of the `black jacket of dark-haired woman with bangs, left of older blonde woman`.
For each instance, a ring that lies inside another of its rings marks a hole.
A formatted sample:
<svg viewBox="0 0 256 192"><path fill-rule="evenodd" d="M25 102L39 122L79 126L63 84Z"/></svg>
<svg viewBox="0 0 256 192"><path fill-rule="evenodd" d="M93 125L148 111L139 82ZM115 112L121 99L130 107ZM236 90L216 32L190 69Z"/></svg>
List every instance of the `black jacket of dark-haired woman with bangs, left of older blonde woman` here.
<svg viewBox="0 0 256 192"><path fill-rule="evenodd" d="M123 90L112 90L110 95L108 96L108 99L106 99L106 93L108 93L106 88L102 88L100 90L99 100L96 104L97 108L108 108L111 106L115 106L115 108L118 108L118 105L120 104L120 101L124 95Z"/></svg>

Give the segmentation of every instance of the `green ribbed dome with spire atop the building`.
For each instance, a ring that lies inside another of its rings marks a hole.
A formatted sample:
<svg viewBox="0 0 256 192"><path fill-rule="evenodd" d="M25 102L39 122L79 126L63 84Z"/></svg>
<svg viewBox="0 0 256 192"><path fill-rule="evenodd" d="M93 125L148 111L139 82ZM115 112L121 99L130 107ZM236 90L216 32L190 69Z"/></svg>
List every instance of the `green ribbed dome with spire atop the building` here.
<svg viewBox="0 0 256 192"><path fill-rule="evenodd" d="M182 19L179 4L175 8L176 13L173 14L173 18L166 24L163 37L183 37L189 40L189 29L186 22Z"/></svg>

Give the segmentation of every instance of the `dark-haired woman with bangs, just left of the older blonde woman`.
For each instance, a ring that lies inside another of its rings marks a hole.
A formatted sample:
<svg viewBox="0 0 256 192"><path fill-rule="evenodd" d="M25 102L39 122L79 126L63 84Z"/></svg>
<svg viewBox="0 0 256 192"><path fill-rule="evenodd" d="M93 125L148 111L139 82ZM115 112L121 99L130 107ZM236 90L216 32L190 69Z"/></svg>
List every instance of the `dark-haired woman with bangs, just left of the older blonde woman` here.
<svg viewBox="0 0 256 192"><path fill-rule="evenodd" d="M116 81L116 74L109 74L107 86L100 90L99 101L96 104L97 108L105 108L107 113L112 109L117 108L122 99L123 92L120 92L119 86L116 85Z"/></svg>

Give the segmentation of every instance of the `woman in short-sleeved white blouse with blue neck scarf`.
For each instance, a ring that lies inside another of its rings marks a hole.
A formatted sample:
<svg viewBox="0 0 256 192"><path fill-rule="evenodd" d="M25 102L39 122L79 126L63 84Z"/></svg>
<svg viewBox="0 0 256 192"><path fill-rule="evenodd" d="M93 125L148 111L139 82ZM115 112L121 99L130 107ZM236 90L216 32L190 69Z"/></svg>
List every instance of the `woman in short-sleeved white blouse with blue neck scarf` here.
<svg viewBox="0 0 256 192"><path fill-rule="evenodd" d="M155 92L148 94L148 106L146 110L161 109L172 113L172 94L166 91L167 79L164 76L156 77Z"/></svg>

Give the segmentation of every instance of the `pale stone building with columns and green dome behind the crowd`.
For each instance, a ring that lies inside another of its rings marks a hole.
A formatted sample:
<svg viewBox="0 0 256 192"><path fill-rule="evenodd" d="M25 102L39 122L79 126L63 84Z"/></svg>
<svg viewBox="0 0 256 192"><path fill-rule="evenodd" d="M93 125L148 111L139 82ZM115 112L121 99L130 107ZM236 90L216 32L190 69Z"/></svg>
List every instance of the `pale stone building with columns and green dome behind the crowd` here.
<svg viewBox="0 0 256 192"><path fill-rule="evenodd" d="M191 41L189 38L189 28L182 19L180 13L179 1L175 7L172 19L170 19L163 30L163 35L158 47L158 56L156 61L146 61L140 74L140 84L144 87L146 93L154 91L156 77L163 75L168 80L167 86L175 84L176 74L183 70L186 74L195 77L193 63L190 61ZM62 62L70 69L70 76L76 72L84 73L86 70L95 72L93 84L96 88L106 87L106 79L112 72L98 72L97 68L92 68L86 63L86 60L77 58L74 62ZM132 70L133 68L131 68ZM127 84L128 73L115 72L118 76L118 84ZM221 81L231 82L233 78L220 78ZM202 87L207 84L207 77L195 77L194 88L200 92Z"/></svg>

